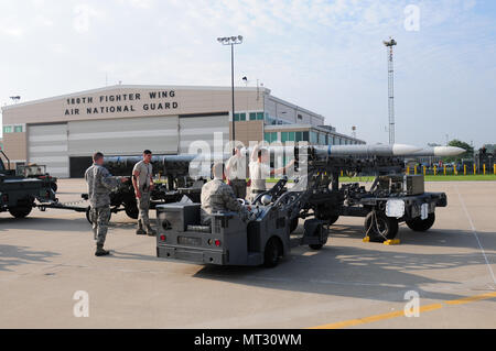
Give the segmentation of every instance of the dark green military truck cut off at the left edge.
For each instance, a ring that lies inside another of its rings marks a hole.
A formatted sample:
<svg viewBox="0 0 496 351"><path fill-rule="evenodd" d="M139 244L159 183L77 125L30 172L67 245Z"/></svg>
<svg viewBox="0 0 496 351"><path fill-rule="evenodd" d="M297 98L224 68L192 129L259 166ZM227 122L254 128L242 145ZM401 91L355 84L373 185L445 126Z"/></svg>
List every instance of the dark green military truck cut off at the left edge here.
<svg viewBox="0 0 496 351"><path fill-rule="evenodd" d="M0 212L9 211L15 218L24 218L36 207L35 201L50 202L55 200L55 193L50 184L36 179L15 175L10 171L9 157L6 158L9 169L0 156Z"/></svg>

